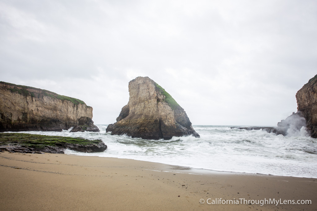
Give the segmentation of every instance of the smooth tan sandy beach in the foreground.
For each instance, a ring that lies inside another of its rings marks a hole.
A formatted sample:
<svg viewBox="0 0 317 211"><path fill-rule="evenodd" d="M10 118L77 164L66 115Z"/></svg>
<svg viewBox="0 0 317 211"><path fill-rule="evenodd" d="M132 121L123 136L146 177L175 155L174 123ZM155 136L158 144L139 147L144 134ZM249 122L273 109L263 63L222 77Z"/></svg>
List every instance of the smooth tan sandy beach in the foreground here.
<svg viewBox="0 0 317 211"><path fill-rule="evenodd" d="M317 210L317 179L65 154L0 154L0 210ZM311 200L311 204L207 204ZM199 202L204 199L204 204ZM236 202L236 201L235 201Z"/></svg>

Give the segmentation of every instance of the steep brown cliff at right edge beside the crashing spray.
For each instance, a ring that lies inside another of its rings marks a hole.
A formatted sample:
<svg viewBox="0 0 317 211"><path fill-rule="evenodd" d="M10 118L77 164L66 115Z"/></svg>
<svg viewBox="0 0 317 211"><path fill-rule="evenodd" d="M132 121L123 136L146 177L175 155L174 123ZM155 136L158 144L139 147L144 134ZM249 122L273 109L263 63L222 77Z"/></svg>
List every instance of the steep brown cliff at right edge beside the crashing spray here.
<svg viewBox="0 0 317 211"><path fill-rule="evenodd" d="M297 110L301 111L307 120L307 129L313 138L317 138L317 75L298 90L296 100Z"/></svg>

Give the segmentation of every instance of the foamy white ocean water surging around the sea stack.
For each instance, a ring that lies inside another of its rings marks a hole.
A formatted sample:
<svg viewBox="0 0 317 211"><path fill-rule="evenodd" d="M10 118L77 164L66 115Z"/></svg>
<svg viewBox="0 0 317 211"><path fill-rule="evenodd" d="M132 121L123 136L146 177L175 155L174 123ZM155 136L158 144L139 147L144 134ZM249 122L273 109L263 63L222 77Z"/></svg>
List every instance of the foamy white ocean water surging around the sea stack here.
<svg viewBox="0 0 317 211"><path fill-rule="evenodd" d="M230 129L232 126L193 126L200 138L173 137L171 140L143 140L106 133L107 125L97 125L100 133L28 131L21 133L101 139L105 152L66 154L129 158L180 165L196 169L240 173L317 178L317 139L306 131L285 137L262 130Z"/></svg>

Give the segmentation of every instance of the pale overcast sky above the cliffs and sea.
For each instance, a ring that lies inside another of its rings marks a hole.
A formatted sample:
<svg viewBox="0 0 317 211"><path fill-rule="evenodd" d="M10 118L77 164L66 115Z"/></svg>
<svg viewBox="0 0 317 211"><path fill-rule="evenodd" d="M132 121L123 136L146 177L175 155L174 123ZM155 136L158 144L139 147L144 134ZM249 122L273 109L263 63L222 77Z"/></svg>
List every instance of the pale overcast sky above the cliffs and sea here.
<svg viewBox="0 0 317 211"><path fill-rule="evenodd" d="M148 76L193 125L275 126L317 74L317 1L0 0L0 80L115 122Z"/></svg>

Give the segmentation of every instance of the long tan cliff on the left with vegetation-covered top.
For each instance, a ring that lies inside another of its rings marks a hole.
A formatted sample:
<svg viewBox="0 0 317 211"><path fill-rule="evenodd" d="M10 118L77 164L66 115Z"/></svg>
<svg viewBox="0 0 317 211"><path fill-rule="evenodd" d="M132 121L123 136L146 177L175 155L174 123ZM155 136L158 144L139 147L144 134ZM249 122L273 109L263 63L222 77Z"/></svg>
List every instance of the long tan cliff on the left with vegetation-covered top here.
<svg viewBox="0 0 317 211"><path fill-rule="evenodd" d="M0 132L61 131L81 117L92 119L93 108L47 90L0 82L0 115Z"/></svg>

